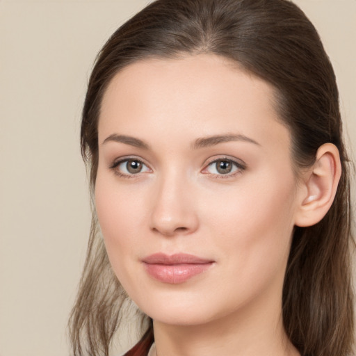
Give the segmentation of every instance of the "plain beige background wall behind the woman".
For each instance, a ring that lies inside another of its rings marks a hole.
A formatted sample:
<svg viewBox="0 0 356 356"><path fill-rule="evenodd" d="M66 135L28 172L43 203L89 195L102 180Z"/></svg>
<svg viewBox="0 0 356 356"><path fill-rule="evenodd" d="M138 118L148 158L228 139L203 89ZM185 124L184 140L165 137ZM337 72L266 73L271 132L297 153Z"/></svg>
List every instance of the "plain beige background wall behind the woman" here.
<svg viewBox="0 0 356 356"><path fill-rule="evenodd" d="M147 2L0 0L0 356L68 355L90 224L86 81L106 38ZM356 0L296 3L334 64L355 152Z"/></svg>

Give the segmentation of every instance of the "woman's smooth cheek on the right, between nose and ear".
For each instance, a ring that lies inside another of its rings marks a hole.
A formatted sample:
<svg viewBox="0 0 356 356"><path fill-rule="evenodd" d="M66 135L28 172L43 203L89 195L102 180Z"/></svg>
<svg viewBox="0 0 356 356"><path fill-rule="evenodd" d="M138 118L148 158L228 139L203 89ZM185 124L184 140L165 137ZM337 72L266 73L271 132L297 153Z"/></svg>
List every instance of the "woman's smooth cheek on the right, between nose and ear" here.
<svg viewBox="0 0 356 356"><path fill-rule="evenodd" d="M295 209L293 175L263 177L264 181L241 184L232 194L216 195L216 209L205 211L216 248L223 251L229 269L238 268L243 279L259 279L281 270L289 255Z"/></svg>

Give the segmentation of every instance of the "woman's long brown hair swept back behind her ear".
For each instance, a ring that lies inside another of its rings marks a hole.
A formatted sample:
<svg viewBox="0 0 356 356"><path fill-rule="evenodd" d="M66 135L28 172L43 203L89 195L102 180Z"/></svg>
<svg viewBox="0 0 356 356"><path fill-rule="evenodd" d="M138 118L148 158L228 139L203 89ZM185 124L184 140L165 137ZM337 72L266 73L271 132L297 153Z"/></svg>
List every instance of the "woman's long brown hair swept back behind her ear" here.
<svg viewBox="0 0 356 356"><path fill-rule="evenodd" d="M332 207L320 223L294 229L282 317L286 334L302 356L350 355L353 238L339 93L316 29L291 1L157 0L120 26L97 56L83 106L81 152L91 192L98 165L100 106L108 83L138 60L187 54L229 58L275 88L277 111L291 132L297 168L312 165L324 143L339 149L342 173ZM70 317L75 356L108 355L126 298L111 270L93 209L88 254ZM152 323L147 332L152 334Z"/></svg>

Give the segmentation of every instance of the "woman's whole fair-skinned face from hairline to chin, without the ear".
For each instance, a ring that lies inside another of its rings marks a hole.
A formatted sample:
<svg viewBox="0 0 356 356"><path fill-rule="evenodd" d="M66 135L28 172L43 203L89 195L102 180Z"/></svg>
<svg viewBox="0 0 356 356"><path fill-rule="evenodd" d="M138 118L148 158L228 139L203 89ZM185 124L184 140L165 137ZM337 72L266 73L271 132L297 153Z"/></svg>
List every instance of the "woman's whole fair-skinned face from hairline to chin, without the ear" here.
<svg viewBox="0 0 356 356"><path fill-rule="evenodd" d="M268 83L214 55L143 60L111 81L98 130L97 215L143 312L280 307L298 184Z"/></svg>

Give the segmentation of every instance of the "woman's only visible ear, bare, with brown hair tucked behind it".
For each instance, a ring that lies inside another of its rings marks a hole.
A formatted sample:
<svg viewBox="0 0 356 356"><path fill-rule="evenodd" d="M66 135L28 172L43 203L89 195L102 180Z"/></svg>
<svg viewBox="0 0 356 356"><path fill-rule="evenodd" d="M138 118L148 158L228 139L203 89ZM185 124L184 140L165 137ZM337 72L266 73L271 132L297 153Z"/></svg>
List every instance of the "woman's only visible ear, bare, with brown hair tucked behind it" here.
<svg viewBox="0 0 356 356"><path fill-rule="evenodd" d="M302 174L295 225L312 226L325 216L334 201L340 177L339 150L332 143L325 143L316 152L312 168Z"/></svg>

